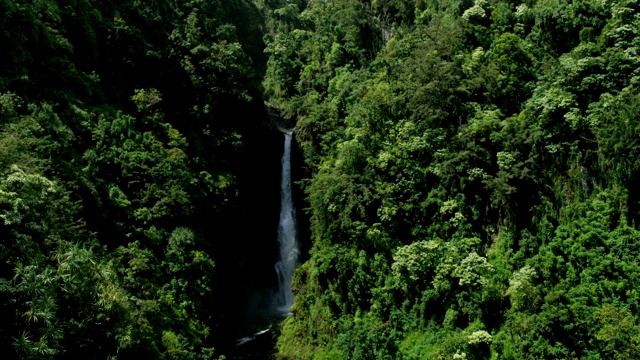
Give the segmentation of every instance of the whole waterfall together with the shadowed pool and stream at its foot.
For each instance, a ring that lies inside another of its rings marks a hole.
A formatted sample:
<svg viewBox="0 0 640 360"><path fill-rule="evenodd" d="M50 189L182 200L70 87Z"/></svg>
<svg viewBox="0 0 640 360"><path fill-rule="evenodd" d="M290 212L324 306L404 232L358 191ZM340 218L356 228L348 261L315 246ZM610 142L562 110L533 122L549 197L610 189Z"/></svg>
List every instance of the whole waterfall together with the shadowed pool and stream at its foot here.
<svg viewBox="0 0 640 360"><path fill-rule="evenodd" d="M282 129L281 129L282 130ZM290 315L293 305L291 278L300 254L295 207L291 191L291 142L293 130L284 133L282 177L280 182L280 221L278 223L279 257L275 265L278 288L257 293L252 321L246 324L247 335L236 340L229 359L267 360L271 356L279 324Z"/></svg>

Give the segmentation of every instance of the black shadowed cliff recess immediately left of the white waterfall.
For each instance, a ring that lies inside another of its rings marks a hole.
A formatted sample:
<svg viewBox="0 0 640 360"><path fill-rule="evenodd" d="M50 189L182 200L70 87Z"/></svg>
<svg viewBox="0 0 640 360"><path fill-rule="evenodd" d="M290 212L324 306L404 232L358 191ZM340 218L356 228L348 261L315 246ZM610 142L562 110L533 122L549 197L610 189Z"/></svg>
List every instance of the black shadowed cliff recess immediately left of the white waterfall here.
<svg viewBox="0 0 640 360"><path fill-rule="evenodd" d="M265 126L243 134L246 146L235 164L239 190L234 211L209 230L217 254L212 296L218 303L221 354L242 334L247 314L263 307L262 298L277 287L282 134L263 119Z"/></svg>

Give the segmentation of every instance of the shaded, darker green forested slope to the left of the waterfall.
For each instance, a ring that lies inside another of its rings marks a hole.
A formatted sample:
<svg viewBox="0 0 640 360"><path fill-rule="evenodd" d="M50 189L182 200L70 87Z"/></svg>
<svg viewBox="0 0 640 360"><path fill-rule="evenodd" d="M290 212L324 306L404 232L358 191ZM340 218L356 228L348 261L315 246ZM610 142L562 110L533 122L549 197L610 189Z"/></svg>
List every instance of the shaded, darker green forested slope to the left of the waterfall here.
<svg viewBox="0 0 640 360"><path fill-rule="evenodd" d="M3 358L214 358L215 225L241 211L236 162L267 125L258 15L0 0Z"/></svg>

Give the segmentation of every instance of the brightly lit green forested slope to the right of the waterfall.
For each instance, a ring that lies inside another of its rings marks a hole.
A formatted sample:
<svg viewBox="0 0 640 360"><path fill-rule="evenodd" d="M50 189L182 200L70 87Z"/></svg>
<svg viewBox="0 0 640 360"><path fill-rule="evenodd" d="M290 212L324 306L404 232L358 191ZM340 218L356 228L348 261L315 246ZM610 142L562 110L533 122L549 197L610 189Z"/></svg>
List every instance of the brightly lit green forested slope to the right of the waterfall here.
<svg viewBox="0 0 640 360"><path fill-rule="evenodd" d="M265 3L311 173L281 358L640 358L637 1Z"/></svg>

